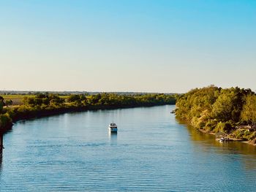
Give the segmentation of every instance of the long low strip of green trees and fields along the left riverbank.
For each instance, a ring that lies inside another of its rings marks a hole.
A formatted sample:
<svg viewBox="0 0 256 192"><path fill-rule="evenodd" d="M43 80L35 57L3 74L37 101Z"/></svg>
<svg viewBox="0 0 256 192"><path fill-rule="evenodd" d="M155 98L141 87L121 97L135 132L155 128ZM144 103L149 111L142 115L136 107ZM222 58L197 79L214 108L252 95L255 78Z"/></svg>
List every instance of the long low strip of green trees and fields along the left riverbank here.
<svg viewBox="0 0 256 192"><path fill-rule="evenodd" d="M12 99L19 97L20 104ZM170 94L116 94L97 93L94 95L72 94L59 96L54 93L37 93L34 96L0 97L0 131L10 126L12 121L41 117L80 110L113 109L122 107L147 107L161 104L175 104Z"/></svg>

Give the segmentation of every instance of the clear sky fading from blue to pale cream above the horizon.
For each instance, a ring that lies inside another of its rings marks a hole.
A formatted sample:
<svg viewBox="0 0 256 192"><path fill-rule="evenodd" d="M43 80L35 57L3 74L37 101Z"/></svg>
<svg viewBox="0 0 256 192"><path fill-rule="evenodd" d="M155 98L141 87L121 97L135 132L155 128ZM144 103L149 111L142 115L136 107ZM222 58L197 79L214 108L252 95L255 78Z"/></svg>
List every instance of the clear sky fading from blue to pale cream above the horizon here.
<svg viewBox="0 0 256 192"><path fill-rule="evenodd" d="M0 90L256 90L256 1L0 0Z"/></svg>

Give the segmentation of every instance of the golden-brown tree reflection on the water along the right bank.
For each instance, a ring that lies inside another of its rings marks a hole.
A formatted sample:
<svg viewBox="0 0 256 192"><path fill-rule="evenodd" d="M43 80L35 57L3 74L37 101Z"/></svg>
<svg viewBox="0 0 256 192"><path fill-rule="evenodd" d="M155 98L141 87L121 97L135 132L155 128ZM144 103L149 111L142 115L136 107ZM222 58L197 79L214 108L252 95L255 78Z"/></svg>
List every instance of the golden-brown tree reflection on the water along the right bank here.
<svg viewBox="0 0 256 192"><path fill-rule="evenodd" d="M196 150L204 153L217 153L227 155L232 158L234 154L240 155L241 161L246 169L256 169L256 147L243 142L218 142L212 134L203 133L193 126L187 125L184 121L178 120L178 123L185 125L189 132L189 137ZM245 156L244 156L245 155ZM236 161L236 159L234 159Z"/></svg>

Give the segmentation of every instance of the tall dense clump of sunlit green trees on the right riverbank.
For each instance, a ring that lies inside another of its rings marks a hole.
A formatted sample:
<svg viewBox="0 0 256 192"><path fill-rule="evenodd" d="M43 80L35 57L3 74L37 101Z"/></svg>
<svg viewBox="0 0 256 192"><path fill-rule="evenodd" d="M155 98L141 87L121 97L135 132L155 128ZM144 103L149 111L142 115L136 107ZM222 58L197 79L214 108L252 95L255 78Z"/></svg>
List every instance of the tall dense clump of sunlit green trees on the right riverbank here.
<svg viewBox="0 0 256 192"><path fill-rule="evenodd" d="M176 117L195 128L256 141L256 95L250 89L196 88L178 97Z"/></svg>

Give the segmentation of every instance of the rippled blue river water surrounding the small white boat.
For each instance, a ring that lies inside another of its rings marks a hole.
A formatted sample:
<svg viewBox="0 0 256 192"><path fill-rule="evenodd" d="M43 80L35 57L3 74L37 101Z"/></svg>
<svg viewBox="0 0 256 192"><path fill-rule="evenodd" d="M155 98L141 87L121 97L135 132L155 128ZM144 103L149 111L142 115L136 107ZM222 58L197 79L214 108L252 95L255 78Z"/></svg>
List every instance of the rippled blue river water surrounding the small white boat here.
<svg viewBox="0 0 256 192"><path fill-rule="evenodd" d="M255 191L256 147L221 144L178 123L173 108L19 122L4 135L0 191Z"/></svg>

